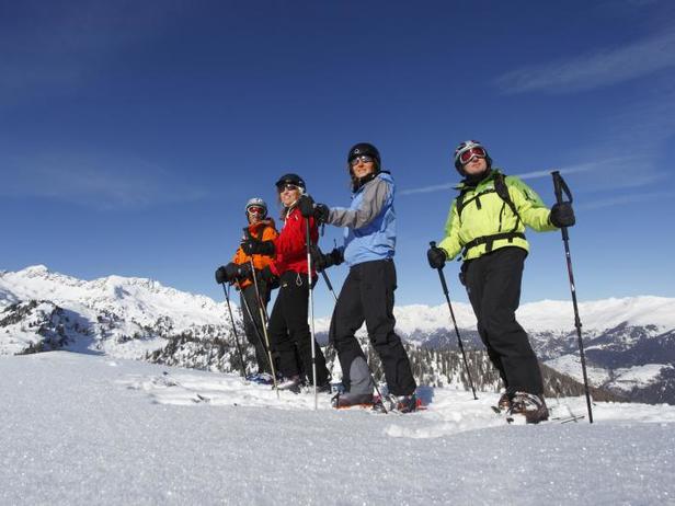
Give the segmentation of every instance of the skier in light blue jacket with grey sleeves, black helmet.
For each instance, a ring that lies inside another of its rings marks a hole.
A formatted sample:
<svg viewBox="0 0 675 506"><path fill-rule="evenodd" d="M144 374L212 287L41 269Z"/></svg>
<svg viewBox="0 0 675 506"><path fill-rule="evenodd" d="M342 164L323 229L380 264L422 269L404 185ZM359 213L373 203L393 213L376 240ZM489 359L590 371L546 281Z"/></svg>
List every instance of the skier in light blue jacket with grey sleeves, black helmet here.
<svg viewBox="0 0 675 506"><path fill-rule="evenodd" d="M354 336L365 321L370 343L382 361L390 407L407 413L416 407L416 384L408 354L394 332L396 186L391 174L381 170L379 151L370 143L361 142L350 150L347 168L352 177L352 205L329 208L317 204L312 208L319 221L345 228L342 248L314 255L317 269L338 265L343 260L350 267L330 327L330 341L338 350L345 389L333 399L333 405L374 404L373 377Z"/></svg>

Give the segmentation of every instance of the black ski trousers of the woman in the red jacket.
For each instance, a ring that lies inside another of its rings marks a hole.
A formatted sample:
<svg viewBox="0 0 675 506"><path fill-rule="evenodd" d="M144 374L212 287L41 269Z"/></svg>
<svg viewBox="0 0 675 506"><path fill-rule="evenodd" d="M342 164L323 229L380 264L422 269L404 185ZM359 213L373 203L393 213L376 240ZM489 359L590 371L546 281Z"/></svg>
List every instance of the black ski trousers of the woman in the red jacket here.
<svg viewBox="0 0 675 506"><path fill-rule="evenodd" d="M290 378L305 376L312 382L311 333L307 322L309 290L307 275L287 271L279 279L279 292L270 314L270 341L272 349L278 354L282 375ZM330 380L325 357L314 342L317 357L317 384Z"/></svg>

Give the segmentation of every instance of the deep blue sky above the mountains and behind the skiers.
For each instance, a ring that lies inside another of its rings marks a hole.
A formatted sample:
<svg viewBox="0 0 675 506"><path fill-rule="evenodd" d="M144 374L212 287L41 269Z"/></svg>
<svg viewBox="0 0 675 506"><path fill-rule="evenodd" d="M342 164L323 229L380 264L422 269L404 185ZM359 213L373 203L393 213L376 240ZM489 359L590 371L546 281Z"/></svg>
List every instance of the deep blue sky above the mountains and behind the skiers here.
<svg viewBox="0 0 675 506"><path fill-rule="evenodd" d="M397 303L442 303L425 251L472 138L549 205L565 175L581 300L674 297L674 78L666 1L0 0L0 268L220 299L245 200L276 215L297 172L346 206L370 141L398 184ZM569 298L560 234L528 239L523 300Z"/></svg>

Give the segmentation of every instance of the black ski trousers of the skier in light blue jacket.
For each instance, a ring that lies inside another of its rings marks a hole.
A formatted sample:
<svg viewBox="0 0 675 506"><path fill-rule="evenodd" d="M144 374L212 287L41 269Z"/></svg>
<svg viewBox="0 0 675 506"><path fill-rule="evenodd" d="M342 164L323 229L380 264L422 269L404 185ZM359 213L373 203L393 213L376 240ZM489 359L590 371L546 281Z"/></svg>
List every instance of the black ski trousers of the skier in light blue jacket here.
<svg viewBox="0 0 675 506"><path fill-rule="evenodd" d="M345 389L350 389L350 370L357 357L365 355L354 336L364 321L370 343L385 368L389 392L410 395L416 384L401 338L394 333L393 290L396 267L391 260L364 262L352 266L342 285L331 319L330 340L338 350Z"/></svg>

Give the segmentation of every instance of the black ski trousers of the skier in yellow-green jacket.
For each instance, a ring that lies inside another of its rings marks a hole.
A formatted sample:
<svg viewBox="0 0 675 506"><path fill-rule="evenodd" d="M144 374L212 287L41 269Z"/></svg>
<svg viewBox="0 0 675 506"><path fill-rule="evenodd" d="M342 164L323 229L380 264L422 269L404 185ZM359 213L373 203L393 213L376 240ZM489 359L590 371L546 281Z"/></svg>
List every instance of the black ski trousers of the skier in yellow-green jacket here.
<svg viewBox="0 0 675 506"><path fill-rule="evenodd" d="M462 272L478 333L506 391L541 394L539 363L516 321L526 256L522 248L502 248L465 262Z"/></svg>

